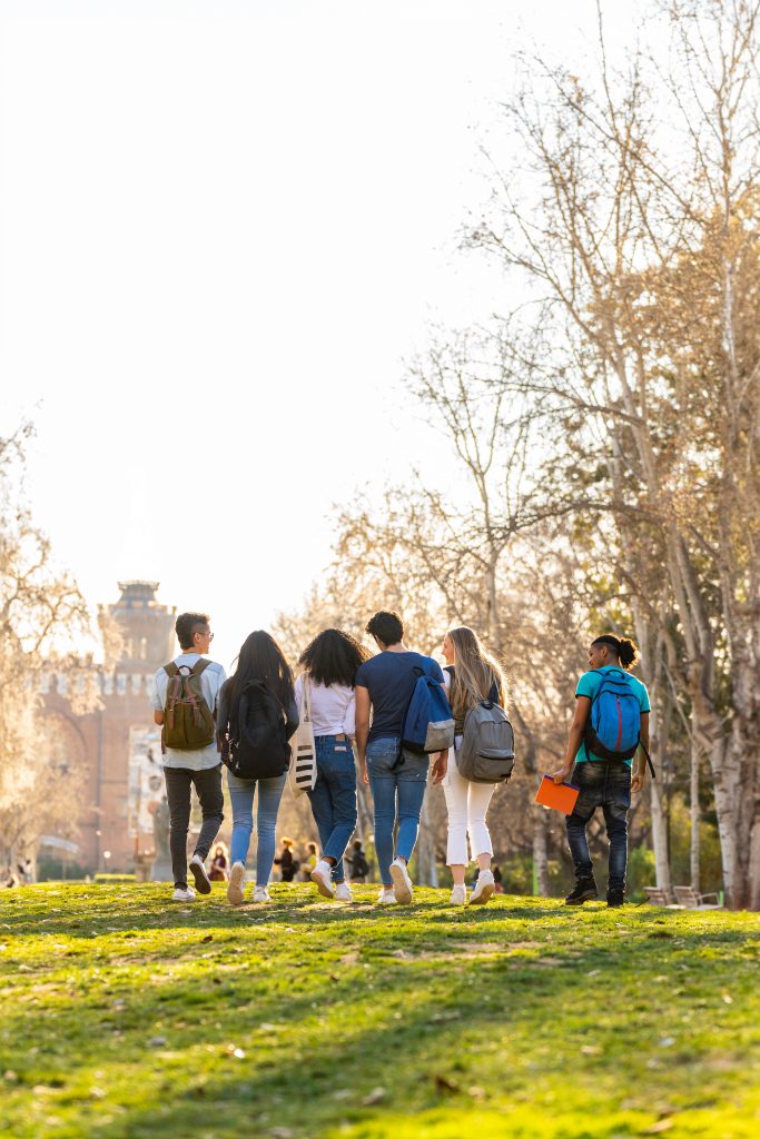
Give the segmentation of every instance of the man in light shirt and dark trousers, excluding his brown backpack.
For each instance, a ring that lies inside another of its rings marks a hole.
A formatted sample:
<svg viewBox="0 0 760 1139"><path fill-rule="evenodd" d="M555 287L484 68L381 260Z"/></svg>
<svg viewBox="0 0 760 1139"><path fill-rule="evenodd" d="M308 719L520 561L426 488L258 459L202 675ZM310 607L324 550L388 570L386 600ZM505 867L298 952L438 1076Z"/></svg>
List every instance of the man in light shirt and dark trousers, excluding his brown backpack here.
<svg viewBox="0 0 760 1139"><path fill-rule="evenodd" d="M209 653L214 634L209 625L205 613L182 613L174 626L181 653L173 664L180 670L181 677L187 677L198 662ZM173 671L173 670L171 670ZM224 683L224 670L214 661L203 662L203 671L198 680L201 695L210 712L215 718L219 690ZM155 675L154 695L150 705L153 718L157 724L164 726L166 698L169 695L170 673L166 666L158 669ZM164 732L165 735L165 727ZM163 739L162 739L163 743ZM201 801L203 823L201 834L190 859L190 870L196 888L202 894L211 893L211 879L204 866L211 845L222 823L222 779L221 759L215 734L209 744L195 751L164 747L164 778L166 780L166 798L169 801L170 831L169 845L174 875L173 902L195 901L195 890L187 882L187 833L190 825L190 787L195 786Z"/></svg>

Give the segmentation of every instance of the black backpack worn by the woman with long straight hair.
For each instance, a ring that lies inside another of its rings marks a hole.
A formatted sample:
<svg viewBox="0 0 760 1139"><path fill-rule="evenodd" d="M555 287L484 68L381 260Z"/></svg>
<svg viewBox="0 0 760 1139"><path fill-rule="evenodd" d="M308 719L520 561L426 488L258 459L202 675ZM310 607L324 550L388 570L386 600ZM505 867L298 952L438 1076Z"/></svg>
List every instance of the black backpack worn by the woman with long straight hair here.
<svg viewBox="0 0 760 1139"><path fill-rule="evenodd" d="M260 680L250 680L230 712L223 760L238 779L275 779L288 769L291 748L285 712Z"/></svg>

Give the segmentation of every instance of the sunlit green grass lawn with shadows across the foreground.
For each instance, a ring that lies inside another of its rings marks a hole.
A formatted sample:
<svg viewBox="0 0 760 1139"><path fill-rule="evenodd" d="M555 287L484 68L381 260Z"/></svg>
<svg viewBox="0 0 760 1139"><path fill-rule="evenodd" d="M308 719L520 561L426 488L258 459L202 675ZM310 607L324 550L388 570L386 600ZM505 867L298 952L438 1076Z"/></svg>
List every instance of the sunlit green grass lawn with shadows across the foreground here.
<svg viewBox="0 0 760 1139"><path fill-rule="evenodd" d="M0 1134L760 1134L758 915L272 892L3 891Z"/></svg>

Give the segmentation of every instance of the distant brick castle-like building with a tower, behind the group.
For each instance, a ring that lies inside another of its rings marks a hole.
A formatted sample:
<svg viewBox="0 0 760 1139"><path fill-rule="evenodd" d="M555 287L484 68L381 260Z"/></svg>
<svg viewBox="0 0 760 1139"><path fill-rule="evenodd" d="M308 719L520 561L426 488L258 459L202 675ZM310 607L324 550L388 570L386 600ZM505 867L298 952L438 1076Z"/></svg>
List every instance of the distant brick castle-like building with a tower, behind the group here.
<svg viewBox="0 0 760 1139"><path fill-rule="evenodd" d="M130 870L137 851L153 847L153 810L164 794L161 729L148 706L154 673L177 653L177 611L156 599L158 582L120 582L121 597L107 612L122 632L123 652L113 672L95 678L104 707L74 715L66 678L43 680L51 764L87 771L79 853L88 870ZM82 678L83 680L83 678Z"/></svg>

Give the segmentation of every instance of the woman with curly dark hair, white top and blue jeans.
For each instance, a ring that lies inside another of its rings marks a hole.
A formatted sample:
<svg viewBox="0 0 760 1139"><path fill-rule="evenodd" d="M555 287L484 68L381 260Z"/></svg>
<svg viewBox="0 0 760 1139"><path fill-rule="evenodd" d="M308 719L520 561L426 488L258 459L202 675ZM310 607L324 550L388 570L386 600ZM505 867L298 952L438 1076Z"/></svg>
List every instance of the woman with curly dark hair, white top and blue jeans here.
<svg viewBox="0 0 760 1139"><path fill-rule="evenodd" d="M301 654L303 674L295 682L302 706L308 688L317 745L317 782L308 792L322 855L311 880L325 898L350 902L343 855L357 826L357 772L353 760L357 669L369 652L342 629L325 629Z"/></svg>

